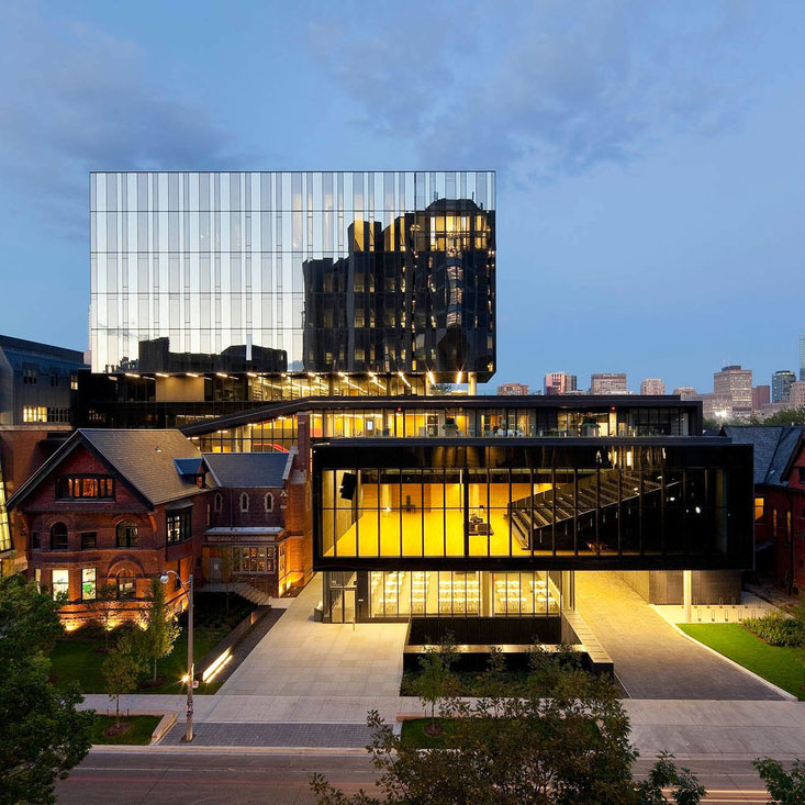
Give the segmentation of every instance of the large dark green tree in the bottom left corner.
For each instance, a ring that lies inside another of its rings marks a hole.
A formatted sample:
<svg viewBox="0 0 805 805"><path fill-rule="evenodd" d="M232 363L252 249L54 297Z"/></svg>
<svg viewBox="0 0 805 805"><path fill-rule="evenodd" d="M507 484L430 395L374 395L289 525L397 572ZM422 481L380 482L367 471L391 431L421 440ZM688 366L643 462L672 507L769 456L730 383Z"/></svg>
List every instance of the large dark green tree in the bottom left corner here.
<svg viewBox="0 0 805 805"><path fill-rule="evenodd" d="M53 803L91 746L92 711L56 691L48 655L64 634L58 603L20 575L0 579L0 802Z"/></svg>

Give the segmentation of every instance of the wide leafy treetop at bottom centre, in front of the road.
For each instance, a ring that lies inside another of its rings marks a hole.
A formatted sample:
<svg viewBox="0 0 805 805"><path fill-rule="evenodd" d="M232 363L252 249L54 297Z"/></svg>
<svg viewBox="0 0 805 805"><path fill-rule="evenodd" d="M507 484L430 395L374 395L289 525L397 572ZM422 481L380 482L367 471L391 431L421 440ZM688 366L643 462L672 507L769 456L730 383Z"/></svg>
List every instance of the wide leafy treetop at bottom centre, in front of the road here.
<svg viewBox="0 0 805 805"><path fill-rule="evenodd" d="M523 695L506 696L501 657L492 653L483 682L489 695L440 701L440 715L452 723L441 749L422 751L372 711L367 749L379 772L380 797L365 791L348 797L314 774L311 787L318 803L656 805L667 802L663 787L672 789L673 802L702 800L698 781L689 770L678 770L669 754L660 756L647 780L634 782L637 752L629 745L619 692L608 679L535 651L533 684Z"/></svg>

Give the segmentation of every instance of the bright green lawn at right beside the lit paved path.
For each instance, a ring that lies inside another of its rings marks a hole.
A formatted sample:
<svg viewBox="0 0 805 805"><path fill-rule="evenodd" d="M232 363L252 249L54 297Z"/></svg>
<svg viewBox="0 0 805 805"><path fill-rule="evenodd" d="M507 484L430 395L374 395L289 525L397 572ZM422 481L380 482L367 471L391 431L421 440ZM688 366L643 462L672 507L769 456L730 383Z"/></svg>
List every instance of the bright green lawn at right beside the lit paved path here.
<svg viewBox="0 0 805 805"><path fill-rule="evenodd" d="M679 627L719 655L805 700L803 649L769 646L740 624L679 624Z"/></svg>

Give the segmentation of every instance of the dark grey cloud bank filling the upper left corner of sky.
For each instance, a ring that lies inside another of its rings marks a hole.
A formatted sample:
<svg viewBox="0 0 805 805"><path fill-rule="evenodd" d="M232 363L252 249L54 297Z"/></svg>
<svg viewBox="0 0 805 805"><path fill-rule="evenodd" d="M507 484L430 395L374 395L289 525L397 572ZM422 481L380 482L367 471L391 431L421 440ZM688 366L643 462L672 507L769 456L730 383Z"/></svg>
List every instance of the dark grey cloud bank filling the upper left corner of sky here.
<svg viewBox="0 0 805 805"><path fill-rule="evenodd" d="M128 42L35 4L0 11L0 181L59 234L87 236L92 169L231 168L199 98L147 76Z"/></svg>

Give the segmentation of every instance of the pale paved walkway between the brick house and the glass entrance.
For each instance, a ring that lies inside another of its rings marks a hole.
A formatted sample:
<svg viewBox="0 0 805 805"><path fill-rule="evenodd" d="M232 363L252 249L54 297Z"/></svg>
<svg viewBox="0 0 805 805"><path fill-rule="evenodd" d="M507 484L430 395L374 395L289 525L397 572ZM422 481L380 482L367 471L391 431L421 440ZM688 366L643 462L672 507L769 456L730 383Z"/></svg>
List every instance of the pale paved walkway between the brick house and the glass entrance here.
<svg viewBox="0 0 805 805"><path fill-rule="evenodd" d="M316 623L321 599L316 575L217 695L398 696L407 624Z"/></svg>

